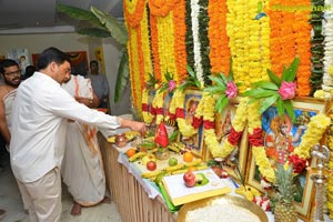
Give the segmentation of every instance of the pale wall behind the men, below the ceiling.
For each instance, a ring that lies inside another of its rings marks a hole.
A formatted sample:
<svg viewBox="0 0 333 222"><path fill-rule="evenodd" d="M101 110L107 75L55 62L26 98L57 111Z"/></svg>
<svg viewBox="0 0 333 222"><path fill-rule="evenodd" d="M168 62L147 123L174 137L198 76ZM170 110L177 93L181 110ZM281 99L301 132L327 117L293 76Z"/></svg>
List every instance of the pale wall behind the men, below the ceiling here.
<svg viewBox="0 0 333 222"><path fill-rule="evenodd" d="M6 56L10 49L28 49L29 61L32 62L31 54L40 53L46 48L56 47L62 51L87 51L88 62L94 60L94 49L102 44L105 74L110 84L110 104L112 114L130 113L130 89L127 89L121 101L113 102L115 78L120 61L120 52L117 43L112 39L101 40L88 38L77 33L44 33L44 34L10 34L0 36L0 56Z"/></svg>

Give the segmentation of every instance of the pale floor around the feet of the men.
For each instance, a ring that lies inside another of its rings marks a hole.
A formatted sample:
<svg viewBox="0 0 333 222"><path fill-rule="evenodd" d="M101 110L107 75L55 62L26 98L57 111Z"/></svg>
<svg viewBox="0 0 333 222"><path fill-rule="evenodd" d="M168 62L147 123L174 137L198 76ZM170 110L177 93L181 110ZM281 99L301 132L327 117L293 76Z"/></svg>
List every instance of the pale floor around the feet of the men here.
<svg viewBox="0 0 333 222"><path fill-rule="evenodd" d="M28 215L23 211L16 179L10 169L9 155L3 154L3 152L0 157L0 209L7 211L6 216L0 221L29 222ZM61 222L121 222L114 202L83 208L80 216L72 216L70 214L71 206L72 199L63 186Z"/></svg>

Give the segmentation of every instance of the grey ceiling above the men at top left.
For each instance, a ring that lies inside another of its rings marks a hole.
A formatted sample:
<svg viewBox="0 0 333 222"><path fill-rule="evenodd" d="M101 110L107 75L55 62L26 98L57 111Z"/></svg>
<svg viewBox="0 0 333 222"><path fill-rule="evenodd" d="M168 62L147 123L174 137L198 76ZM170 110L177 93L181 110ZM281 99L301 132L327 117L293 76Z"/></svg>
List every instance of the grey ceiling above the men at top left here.
<svg viewBox="0 0 333 222"><path fill-rule="evenodd" d="M57 13L57 3L85 10L94 6L115 18L123 17L122 0L0 0L0 34L75 26L75 20Z"/></svg>

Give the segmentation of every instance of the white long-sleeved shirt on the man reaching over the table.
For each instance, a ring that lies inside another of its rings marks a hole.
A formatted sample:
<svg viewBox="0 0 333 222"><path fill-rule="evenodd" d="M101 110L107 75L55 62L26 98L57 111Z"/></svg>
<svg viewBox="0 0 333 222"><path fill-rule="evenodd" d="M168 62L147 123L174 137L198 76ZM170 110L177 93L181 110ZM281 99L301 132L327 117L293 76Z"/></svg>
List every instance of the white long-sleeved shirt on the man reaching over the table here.
<svg viewBox="0 0 333 222"><path fill-rule="evenodd" d="M21 182L33 182L61 167L67 120L117 129L117 117L80 104L47 74L36 72L17 92L11 127L10 160Z"/></svg>

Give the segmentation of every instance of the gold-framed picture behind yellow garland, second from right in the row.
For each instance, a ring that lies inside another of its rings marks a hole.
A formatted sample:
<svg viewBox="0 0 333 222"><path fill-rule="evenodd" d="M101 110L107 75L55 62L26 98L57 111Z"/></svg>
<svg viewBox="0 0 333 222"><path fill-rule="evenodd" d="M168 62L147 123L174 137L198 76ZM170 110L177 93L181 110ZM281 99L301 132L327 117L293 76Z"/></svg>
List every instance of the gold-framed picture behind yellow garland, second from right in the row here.
<svg viewBox="0 0 333 222"><path fill-rule="evenodd" d="M215 113L215 133L220 144L228 140L228 135L231 132L232 121L234 119L238 107L239 100L233 99L230 100L229 104L224 108L222 113ZM228 172L230 176L238 180L239 182L241 182L241 178L236 169L236 163L239 164L241 176L244 179L246 172L248 150L248 129L245 127L241 140L235 145L235 149L231 152L229 157L225 158L223 162L223 169ZM206 145L204 145L204 152L208 160L213 159Z"/></svg>

